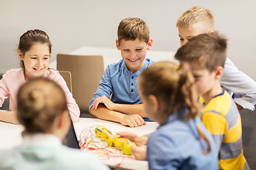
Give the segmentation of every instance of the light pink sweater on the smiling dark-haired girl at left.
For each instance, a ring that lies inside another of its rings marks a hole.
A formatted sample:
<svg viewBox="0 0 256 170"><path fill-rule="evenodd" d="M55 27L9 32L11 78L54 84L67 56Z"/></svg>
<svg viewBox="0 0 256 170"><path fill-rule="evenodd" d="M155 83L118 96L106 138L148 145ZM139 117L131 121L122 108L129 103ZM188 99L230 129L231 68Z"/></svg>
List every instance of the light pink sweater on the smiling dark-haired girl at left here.
<svg viewBox="0 0 256 170"><path fill-rule="evenodd" d="M63 88L68 101L68 111L70 112L70 117L73 122L78 122L80 109L78 108L78 104L75 102L72 94L68 90L68 86L65 83L65 80L60 76L60 73L53 69L48 69L48 71L43 74L43 77L55 81ZM4 103L4 99L9 97L9 111L16 111L16 95L18 93L18 89L24 83L26 83L26 80L24 77L23 69L10 69L7 71L3 75L3 78L0 80L0 107Z"/></svg>

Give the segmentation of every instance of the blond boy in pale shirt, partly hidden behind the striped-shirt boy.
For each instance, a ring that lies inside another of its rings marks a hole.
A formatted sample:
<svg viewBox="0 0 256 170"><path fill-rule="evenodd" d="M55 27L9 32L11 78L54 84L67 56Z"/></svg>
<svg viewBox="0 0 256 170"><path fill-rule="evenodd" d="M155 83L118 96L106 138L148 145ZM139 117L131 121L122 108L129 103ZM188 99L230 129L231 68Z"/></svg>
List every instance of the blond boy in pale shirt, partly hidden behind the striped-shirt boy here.
<svg viewBox="0 0 256 170"><path fill-rule="evenodd" d="M178 36L180 37L181 46L185 45L189 39L202 33L214 33L215 21L213 13L206 8L193 6L188 8L176 23ZM231 60L227 58L223 77L220 84L234 98L238 109L247 108L255 110L256 104L256 83L243 72L239 71ZM235 96L236 96L235 95Z"/></svg>

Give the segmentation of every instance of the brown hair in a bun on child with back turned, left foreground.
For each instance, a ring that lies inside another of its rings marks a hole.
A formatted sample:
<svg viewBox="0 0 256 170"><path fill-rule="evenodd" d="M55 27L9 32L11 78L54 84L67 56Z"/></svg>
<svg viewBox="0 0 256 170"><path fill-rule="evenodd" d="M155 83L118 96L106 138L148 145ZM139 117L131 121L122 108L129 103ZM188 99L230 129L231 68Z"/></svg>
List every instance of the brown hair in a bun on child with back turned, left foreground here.
<svg viewBox="0 0 256 170"><path fill-rule="evenodd" d="M18 90L18 120L27 133L48 132L55 118L68 111L63 89L54 81L31 79Z"/></svg>

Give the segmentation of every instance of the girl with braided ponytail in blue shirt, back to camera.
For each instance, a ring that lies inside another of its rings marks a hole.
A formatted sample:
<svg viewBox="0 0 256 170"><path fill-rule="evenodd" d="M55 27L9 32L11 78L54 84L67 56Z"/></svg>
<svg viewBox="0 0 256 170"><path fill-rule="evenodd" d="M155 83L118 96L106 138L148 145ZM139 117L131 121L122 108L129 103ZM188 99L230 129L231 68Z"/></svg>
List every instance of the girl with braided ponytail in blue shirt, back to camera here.
<svg viewBox="0 0 256 170"><path fill-rule="evenodd" d="M218 169L188 69L172 62L152 64L139 76L139 95L146 114L160 125L147 143L149 169Z"/></svg>

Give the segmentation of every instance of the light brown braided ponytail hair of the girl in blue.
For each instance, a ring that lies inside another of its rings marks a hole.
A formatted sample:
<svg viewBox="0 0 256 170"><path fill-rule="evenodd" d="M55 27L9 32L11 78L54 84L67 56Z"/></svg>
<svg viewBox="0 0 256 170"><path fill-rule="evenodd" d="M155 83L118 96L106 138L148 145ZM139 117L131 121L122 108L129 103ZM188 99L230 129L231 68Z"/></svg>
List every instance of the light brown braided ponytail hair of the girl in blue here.
<svg viewBox="0 0 256 170"><path fill-rule="evenodd" d="M139 90L142 96L148 98L156 96L160 101L158 122L163 124L172 113L182 108L188 108L187 119L195 119L200 116L198 96L194 87L194 79L188 69L172 62L157 62L152 64L139 75ZM208 143L210 142L203 131L196 125L199 136Z"/></svg>

